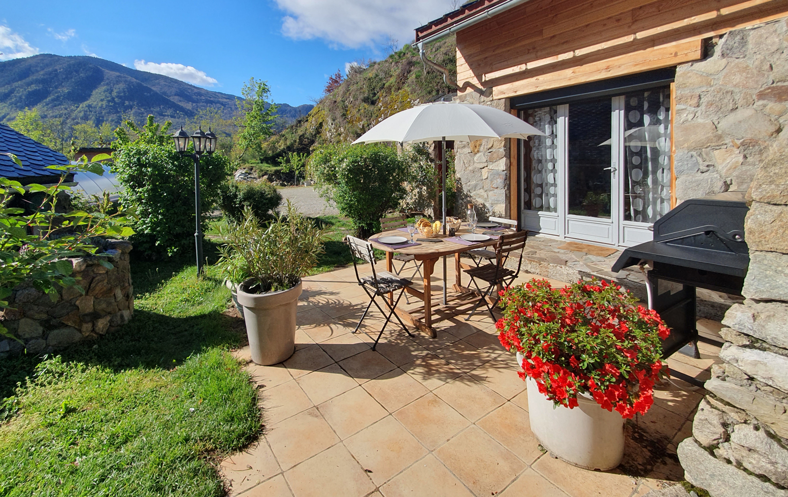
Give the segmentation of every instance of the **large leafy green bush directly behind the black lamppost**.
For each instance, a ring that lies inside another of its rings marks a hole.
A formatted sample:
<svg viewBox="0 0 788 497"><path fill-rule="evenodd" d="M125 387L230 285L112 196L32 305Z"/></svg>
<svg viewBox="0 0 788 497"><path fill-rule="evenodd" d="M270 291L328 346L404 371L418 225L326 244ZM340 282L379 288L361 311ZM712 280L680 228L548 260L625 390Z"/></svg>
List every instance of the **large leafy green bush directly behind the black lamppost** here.
<svg viewBox="0 0 788 497"><path fill-rule="evenodd" d="M149 115L141 128L126 121L115 130L117 151L112 171L124 186L121 201L137 208L135 249L148 256L194 248L194 161L175 150L168 133L170 125L169 121L160 125ZM225 155L214 153L200 159L203 230L207 227L205 214L213 210L228 174Z"/></svg>

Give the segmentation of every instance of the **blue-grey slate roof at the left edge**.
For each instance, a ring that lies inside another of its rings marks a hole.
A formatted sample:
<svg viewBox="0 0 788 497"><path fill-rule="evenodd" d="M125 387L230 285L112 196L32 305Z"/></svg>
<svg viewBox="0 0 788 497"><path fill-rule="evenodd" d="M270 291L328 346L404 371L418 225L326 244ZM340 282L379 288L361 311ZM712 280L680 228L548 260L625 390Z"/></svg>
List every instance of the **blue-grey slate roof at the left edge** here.
<svg viewBox="0 0 788 497"><path fill-rule="evenodd" d="M24 167L17 166L8 155L2 155L6 152L17 155ZM58 171L46 169L46 166L68 163L69 159L60 152L39 144L8 125L0 124L0 177L58 176Z"/></svg>

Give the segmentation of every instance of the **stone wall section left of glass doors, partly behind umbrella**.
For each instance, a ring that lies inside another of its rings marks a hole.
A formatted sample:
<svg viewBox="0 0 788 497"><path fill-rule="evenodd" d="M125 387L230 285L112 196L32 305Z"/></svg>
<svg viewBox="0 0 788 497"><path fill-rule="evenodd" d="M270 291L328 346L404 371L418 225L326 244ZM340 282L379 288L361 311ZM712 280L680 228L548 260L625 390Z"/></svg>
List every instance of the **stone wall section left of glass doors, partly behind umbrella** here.
<svg viewBox="0 0 788 497"><path fill-rule="evenodd" d="M493 100L487 90L485 95L465 92L459 102L480 103L509 111L509 100ZM476 204L479 219L491 215L509 218L509 141L485 139L473 142L455 142L455 171L457 176L457 201L455 213L465 217L466 204Z"/></svg>

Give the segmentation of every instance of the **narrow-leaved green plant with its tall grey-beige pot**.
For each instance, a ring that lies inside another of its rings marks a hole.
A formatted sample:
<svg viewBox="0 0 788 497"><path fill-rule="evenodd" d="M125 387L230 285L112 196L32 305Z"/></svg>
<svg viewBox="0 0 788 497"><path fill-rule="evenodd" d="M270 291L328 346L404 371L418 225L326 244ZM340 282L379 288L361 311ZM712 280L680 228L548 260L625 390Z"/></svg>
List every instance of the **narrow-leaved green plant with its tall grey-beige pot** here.
<svg viewBox="0 0 788 497"><path fill-rule="evenodd" d="M219 236L224 244L219 265L225 278L232 282L231 278L246 276L234 286L243 307L252 361L286 360L296 346L301 278L318 263L325 230L288 200L287 214L269 222L261 222L246 207L242 221L221 227Z"/></svg>

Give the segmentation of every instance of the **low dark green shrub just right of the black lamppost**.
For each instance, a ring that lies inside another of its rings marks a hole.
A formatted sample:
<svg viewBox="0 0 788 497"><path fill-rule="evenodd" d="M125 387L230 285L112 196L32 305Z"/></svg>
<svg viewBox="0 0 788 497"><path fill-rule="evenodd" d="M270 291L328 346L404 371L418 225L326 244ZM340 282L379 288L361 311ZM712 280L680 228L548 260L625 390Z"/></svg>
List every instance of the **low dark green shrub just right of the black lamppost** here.
<svg viewBox="0 0 788 497"><path fill-rule="evenodd" d="M268 219L281 202L281 193L265 180L225 181L219 195L219 208L236 222L243 219L245 206L251 207L258 219Z"/></svg>

